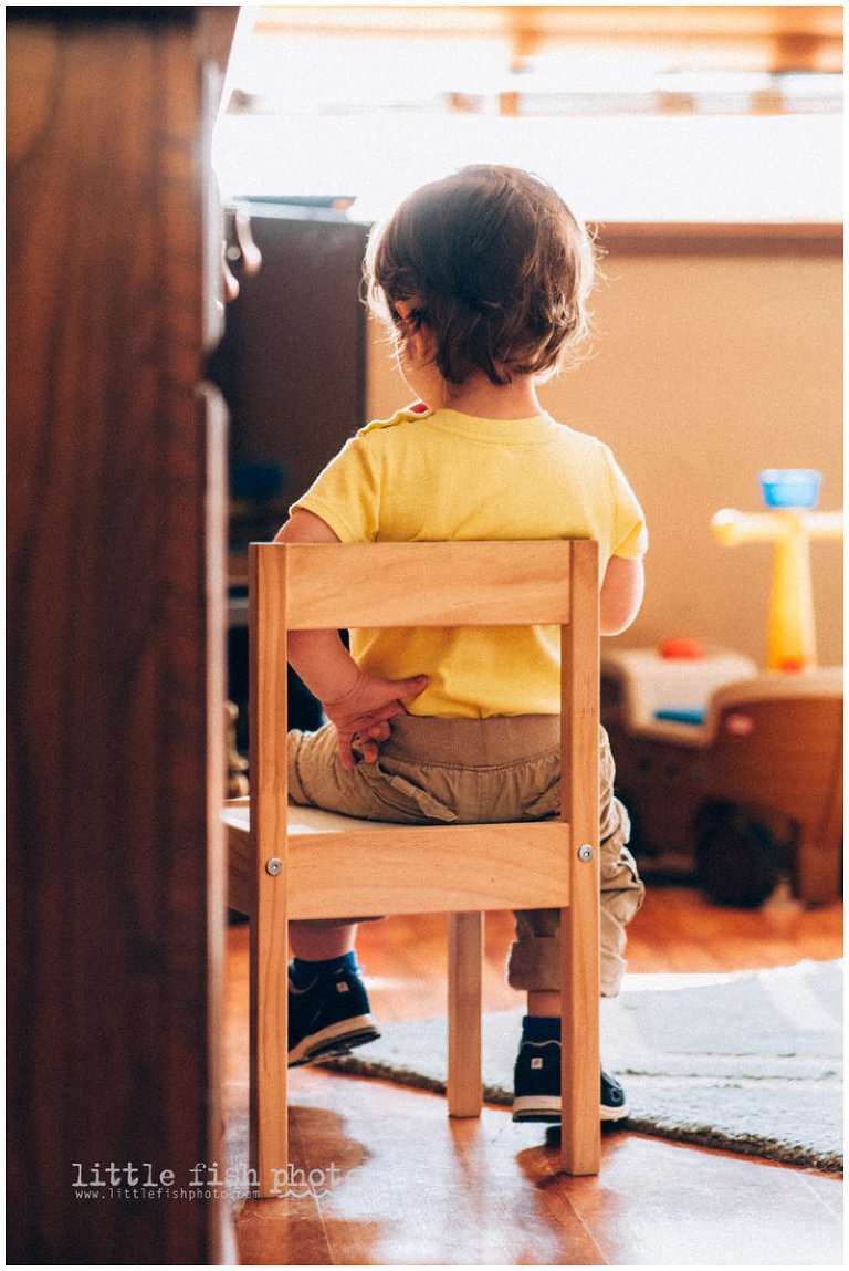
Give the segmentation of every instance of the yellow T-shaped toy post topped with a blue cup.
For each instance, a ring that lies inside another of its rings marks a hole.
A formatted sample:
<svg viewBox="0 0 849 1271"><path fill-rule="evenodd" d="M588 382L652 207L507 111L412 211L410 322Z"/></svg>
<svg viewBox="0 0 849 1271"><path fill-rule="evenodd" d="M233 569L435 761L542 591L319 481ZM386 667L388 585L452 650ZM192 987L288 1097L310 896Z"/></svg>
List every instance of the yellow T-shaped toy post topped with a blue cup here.
<svg viewBox="0 0 849 1271"><path fill-rule="evenodd" d="M810 541L843 535L843 512L812 511L820 480L820 473L810 468L766 469L760 484L769 511L723 508L712 521L723 547L775 544L766 628L770 671L807 671L817 665Z"/></svg>

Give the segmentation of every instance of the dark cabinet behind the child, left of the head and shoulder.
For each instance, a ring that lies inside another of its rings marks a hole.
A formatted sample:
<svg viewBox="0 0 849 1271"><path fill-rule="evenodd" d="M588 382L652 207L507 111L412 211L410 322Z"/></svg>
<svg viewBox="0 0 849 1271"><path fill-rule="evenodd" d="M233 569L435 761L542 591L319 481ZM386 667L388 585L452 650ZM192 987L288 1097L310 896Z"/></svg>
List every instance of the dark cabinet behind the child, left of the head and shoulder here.
<svg viewBox="0 0 849 1271"><path fill-rule="evenodd" d="M333 208L247 205L261 268L240 280L211 364L231 417L231 549L289 505L366 422L367 226Z"/></svg>

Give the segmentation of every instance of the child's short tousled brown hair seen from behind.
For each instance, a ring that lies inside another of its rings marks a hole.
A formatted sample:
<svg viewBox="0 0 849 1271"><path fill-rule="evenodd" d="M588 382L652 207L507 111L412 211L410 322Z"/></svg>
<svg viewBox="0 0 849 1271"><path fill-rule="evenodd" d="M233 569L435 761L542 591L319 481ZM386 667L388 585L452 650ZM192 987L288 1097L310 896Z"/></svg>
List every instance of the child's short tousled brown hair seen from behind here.
<svg viewBox="0 0 849 1271"><path fill-rule="evenodd" d="M444 379L482 370L493 384L557 369L587 330L595 252L586 229L544 180L475 164L422 186L377 226L366 253L366 299L400 347L412 305Z"/></svg>

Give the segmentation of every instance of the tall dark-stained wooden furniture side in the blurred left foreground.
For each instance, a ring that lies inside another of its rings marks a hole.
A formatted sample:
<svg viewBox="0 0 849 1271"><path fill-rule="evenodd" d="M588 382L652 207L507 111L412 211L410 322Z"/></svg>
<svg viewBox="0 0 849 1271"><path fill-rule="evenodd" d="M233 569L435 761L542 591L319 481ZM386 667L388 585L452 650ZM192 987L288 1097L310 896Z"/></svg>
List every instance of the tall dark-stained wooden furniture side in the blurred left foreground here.
<svg viewBox="0 0 849 1271"><path fill-rule="evenodd" d="M222 1159L226 436L198 384L235 15L6 10L10 1263L231 1257L220 1190L188 1192Z"/></svg>

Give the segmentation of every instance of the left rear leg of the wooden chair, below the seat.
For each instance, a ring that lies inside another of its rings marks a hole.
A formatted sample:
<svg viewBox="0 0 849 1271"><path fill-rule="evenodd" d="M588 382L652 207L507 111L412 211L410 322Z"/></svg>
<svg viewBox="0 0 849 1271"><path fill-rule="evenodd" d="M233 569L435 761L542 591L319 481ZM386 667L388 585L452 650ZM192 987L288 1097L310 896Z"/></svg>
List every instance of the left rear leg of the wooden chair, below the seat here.
<svg viewBox="0 0 849 1271"><path fill-rule="evenodd" d="M249 1163L261 1197L285 1196L289 1178L289 933L283 890L273 886L277 881L261 887L250 923Z"/></svg>

